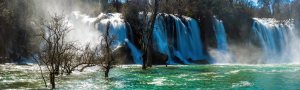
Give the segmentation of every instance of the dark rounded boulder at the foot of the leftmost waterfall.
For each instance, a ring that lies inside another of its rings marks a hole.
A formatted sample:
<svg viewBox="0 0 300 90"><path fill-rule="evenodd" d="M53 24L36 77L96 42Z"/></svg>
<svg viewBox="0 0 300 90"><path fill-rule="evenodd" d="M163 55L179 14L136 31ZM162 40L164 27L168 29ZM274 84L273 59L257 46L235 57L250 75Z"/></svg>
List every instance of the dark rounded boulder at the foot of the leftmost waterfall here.
<svg viewBox="0 0 300 90"><path fill-rule="evenodd" d="M127 45L122 44L113 51L113 55L115 56L118 64L135 64L130 52L130 48Z"/></svg>

